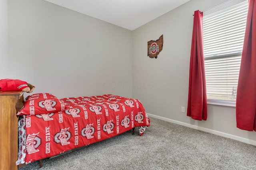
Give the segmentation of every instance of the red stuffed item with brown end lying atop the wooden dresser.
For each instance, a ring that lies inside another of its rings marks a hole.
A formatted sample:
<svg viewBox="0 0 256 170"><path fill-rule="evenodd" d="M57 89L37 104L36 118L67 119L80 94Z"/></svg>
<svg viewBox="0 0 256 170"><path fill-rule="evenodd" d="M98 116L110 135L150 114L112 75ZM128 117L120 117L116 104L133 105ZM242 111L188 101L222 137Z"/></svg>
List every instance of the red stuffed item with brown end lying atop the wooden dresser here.
<svg viewBox="0 0 256 170"><path fill-rule="evenodd" d="M2 79L0 80L0 91L23 91L31 93L35 86L22 80Z"/></svg>

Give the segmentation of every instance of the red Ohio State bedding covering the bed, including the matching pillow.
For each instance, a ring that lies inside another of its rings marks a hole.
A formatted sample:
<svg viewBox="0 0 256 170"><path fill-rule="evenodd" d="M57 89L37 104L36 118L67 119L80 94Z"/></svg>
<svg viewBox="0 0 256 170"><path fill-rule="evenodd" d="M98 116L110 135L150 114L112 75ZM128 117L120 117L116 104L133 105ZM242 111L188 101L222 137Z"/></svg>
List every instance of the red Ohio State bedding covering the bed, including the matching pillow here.
<svg viewBox="0 0 256 170"><path fill-rule="evenodd" d="M30 163L90 145L139 127L150 126L142 103L110 94L58 99L28 96L17 115L19 153L16 164Z"/></svg>

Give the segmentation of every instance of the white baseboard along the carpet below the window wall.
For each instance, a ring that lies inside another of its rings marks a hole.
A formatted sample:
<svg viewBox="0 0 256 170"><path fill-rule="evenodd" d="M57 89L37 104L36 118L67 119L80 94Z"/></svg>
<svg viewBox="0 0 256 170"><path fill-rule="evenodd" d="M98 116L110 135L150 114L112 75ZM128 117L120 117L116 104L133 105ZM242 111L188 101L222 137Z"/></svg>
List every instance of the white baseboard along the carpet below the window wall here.
<svg viewBox="0 0 256 170"><path fill-rule="evenodd" d="M181 121L176 121L176 120L168 119L168 118L157 116L157 115L152 115L150 113L147 113L147 114L148 114L149 117L154 117L156 119L161 119L161 120L168 121L168 122L171 122L171 123L175 123L175 124L178 124L178 125L190 127L190 128L193 128L193 129L197 129L197 130L200 130L200 131L212 133L214 135L219 135L219 136L222 136L222 137L234 139L236 141L240 141L240 142L244 142L244 143L248 143L250 145L255 145L256 146L256 141L251 140L251 139L246 139L246 138L231 135L231 134L228 134L228 133L223 133L223 132L220 132L220 131L215 131L215 130L212 130L212 129L207 129L207 128L199 127L199 126L196 126L196 125L191 125L191 124L184 123L184 122L181 122Z"/></svg>

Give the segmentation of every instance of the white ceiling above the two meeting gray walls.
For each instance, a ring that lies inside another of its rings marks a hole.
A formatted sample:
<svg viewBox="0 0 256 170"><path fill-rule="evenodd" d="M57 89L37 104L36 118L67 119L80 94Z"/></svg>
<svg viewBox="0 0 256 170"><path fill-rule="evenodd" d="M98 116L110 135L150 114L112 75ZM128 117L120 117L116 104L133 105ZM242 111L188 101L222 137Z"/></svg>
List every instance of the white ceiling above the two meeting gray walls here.
<svg viewBox="0 0 256 170"><path fill-rule="evenodd" d="M45 0L134 30L190 0Z"/></svg>

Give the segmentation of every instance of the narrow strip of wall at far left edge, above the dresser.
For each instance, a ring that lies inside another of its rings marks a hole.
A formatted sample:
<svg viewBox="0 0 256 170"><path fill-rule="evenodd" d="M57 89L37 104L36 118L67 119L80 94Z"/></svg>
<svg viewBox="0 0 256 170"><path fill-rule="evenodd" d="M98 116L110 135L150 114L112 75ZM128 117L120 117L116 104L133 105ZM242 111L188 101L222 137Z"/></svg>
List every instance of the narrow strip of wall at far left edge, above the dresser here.
<svg viewBox="0 0 256 170"><path fill-rule="evenodd" d="M8 78L8 0L0 1L0 79Z"/></svg>

